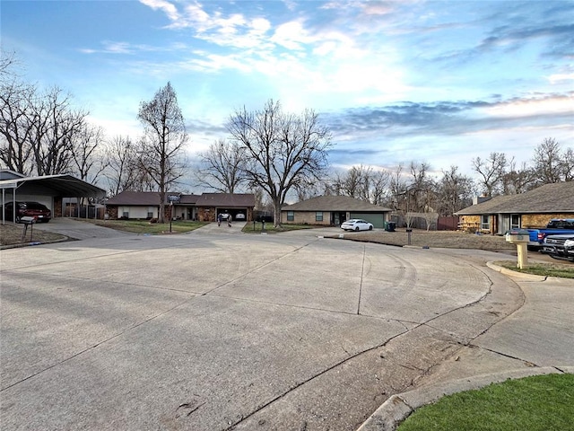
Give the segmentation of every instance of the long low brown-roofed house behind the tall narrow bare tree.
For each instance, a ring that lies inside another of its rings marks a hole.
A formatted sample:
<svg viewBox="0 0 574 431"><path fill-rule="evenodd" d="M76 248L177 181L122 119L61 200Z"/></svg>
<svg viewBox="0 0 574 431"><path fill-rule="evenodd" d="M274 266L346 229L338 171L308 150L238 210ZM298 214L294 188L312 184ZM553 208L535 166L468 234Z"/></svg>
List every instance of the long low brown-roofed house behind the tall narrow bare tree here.
<svg viewBox="0 0 574 431"><path fill-rule="evenodd" d="M203 193L186 195L167 192L165 216L181 220L214 222L219 214L230 214L233 220L253 219L255 195L251 193ZM106 202L109 218L152 219L160 213L157 191L122 191Z"/></svg>

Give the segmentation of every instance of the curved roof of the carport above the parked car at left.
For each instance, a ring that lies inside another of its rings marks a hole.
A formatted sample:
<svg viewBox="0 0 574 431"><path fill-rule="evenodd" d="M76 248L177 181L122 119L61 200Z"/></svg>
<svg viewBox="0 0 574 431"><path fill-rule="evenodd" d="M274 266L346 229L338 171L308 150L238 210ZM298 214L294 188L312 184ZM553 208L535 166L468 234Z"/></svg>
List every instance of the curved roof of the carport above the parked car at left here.
<svg viewBox="0 0 574 431"><path fill-rule="evenodd" d="M39 189L49 189L63 198L105 198L106 196L106 190L65 174L0 180L0 189L16 189L19 193L29 194L38 192Z"/></svg>

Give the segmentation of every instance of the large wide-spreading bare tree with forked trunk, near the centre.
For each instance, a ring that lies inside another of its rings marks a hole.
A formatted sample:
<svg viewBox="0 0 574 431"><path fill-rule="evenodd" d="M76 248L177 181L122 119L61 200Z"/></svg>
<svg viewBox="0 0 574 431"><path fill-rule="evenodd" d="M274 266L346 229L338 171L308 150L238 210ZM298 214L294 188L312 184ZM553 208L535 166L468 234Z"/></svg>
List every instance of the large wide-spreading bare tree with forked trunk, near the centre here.
<svg viewBox="0 0 574 431"><path fill-rule="evenodd" d="M283 113L279 102L263 110L245 108L231 115L227 128L247 154L244 172L252 187L261 187L274 204L274 224L281 222L287 194L320 180L326 168L331 134L313 110L299 116Z"/></svg>

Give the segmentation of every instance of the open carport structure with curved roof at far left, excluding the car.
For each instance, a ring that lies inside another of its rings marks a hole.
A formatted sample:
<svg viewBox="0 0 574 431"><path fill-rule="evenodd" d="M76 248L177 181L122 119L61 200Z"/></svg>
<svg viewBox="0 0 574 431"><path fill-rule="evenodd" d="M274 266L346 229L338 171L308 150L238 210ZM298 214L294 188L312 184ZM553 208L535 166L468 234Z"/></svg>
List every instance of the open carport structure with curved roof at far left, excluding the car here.
<svg viewBox="0 0 574 431"><path fill-rule="evenodd" d="M0 189L2 189L2 207L0 221L4 223L4 203L16 201L34 201L44 204L52 212L52 217L65 216L65 202L84 200L92 204L105 198L106 190L79 180L72 175L43 175L27 177L11 170L0 170ZM93 212L94 206L91 205ZM85 208L84 208L85 209ZM84 210L88 216L89 211ZM93 212L95 217L95 212Z"/></svg>

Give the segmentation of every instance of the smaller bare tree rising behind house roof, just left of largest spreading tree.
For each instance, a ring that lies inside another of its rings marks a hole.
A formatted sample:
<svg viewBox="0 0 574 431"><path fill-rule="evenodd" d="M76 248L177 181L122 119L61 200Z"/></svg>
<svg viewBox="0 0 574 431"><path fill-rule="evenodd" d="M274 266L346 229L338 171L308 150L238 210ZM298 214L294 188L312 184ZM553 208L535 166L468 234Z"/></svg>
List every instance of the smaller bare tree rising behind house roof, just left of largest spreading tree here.
<svg viewBox="0 0 574 431"><path fill-rule="evenodd" d="M235 193L246 182L241 169L246 162L245 148L237 142L220 139L199 157L202 163L196 175L199 184L223 193Z"/></svg>

